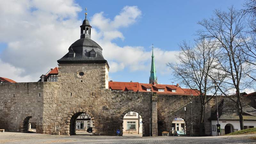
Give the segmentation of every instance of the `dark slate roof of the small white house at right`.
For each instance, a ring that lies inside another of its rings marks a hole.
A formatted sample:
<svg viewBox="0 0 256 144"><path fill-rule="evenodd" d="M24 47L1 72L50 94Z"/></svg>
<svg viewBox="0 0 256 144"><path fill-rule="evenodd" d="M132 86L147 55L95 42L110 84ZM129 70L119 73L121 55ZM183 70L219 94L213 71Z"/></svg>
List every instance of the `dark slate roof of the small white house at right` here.
<svg viewBox="0 0 256 144"><path fill-rule="evenodd" d="M230 99L224 99L221 101L218 106L219 111L219 120L238 120L239 116L236 111L236 104ZM244 120L254 121L256 120L256 109L249 106L243 105L243 118ZM217 120L217 111L211 114L211 117L208 120Z"/></svg>

